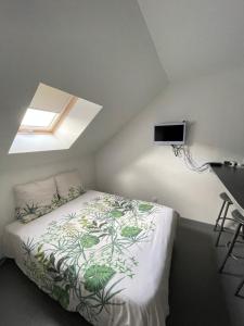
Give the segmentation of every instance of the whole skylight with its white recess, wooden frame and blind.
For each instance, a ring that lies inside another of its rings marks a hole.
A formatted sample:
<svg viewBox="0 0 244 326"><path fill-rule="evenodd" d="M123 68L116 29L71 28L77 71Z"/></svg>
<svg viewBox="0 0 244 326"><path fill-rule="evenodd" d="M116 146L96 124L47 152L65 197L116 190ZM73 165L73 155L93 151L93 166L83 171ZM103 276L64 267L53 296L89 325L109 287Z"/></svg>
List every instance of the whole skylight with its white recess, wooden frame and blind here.
<svg viewBox="0 0 244 326"><path fill-rule="evenodd" d="M101 109L99 104L40 83L9 153L69 149Z"/></svg>

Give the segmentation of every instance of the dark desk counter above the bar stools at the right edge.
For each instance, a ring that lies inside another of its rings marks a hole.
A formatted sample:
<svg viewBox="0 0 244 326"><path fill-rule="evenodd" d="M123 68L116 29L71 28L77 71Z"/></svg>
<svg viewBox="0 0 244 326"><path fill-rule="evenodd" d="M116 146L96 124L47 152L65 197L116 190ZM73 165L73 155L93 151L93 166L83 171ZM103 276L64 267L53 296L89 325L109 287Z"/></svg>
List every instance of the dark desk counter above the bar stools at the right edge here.
<svg viewBox="0 0 244 326"><path fill-rule="evenodd" d="M223 184L228 195L244 214L244 167L211 166L211 170Z"/></svg>

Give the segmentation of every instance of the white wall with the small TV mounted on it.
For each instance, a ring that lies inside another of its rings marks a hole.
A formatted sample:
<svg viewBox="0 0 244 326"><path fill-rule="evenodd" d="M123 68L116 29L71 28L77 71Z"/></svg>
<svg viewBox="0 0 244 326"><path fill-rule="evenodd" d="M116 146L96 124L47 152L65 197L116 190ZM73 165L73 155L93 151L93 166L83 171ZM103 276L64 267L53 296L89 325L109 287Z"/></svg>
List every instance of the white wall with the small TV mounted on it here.
<svg viewBox="0 0 244 326"><path fill-rule="evenodd" d="M221 184L193 173L169 147L153 145L154 123L191 122L198 163L244 158L244 67L170 85L95 155L98 187L172 206L181 216L214 223Z"/></svg>

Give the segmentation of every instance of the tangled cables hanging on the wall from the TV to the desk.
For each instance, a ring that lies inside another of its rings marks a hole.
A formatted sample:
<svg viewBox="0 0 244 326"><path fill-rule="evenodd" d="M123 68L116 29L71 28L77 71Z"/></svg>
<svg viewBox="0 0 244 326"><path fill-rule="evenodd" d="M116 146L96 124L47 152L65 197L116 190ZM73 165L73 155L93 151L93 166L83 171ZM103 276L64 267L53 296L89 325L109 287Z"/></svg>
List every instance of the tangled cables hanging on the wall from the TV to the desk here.
<svg viewBox="0 0 244 326"><path fill-rule="evenodd" d="M209 168L209 162L198 165L192 158L190 148L184 145L172 145L172 151L177 158L183 159L185 166L191 171L202 173Z"/></svg>

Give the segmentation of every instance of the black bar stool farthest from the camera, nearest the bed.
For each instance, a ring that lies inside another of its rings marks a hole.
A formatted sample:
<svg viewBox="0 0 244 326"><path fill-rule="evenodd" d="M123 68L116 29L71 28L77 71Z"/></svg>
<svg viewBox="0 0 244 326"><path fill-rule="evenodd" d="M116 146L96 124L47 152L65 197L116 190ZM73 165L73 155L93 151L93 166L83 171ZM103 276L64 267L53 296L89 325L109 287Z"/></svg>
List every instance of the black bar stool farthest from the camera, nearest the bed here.
<svg viewBox="0 0 244 326"><path fill-rule="evenodd" d="M229 198L229 196L226 192L220 193L219 197L222 199L222 205L221 205L221 209L219 211L219 215L216 220L215 227L214 227L214 231L216 231L218 229L218 226L219 226L219 230L218 230L219 233L218 233L218 237L217 237L217 240L216 240L216 247L219 246L219 240L220 240L222 231L226 231L224 230L224 222L227 220L233 221L233 218L227 217L229 208L230 208L230 205L233 204L233 202L231 201L231 199ZM223 215L222 215L222 212L223 212ZM221 223L219 224L220 221L221 221Z"/></svg>

